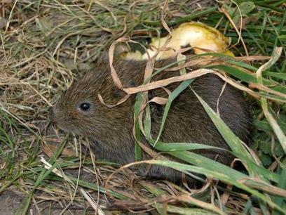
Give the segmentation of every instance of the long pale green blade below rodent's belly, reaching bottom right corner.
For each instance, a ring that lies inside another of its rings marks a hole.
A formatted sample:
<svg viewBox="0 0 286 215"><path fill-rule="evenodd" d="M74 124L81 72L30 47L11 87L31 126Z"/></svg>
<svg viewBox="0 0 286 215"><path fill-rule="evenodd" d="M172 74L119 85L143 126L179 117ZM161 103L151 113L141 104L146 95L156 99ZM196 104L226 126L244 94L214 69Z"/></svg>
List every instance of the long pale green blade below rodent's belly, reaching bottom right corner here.
<svg viewBox="0 0 286 215"><path fill-rule="evenodd" d="M175 155L176 153L180 153L180 152L170 152L171 155L172 154ZM195 153L193 153L193 154L195 154ZM214 161L212 161L212 162L214 162ZM274 202L269 200L269 198L266 197L266 195L261 194L257 190L254 190L254 189L250 188L249 186L245 185L243 183L245 181L245 179L248 178L251 180L251 178L245 174L238 172L238 171L236 171L236 174L230 174L229 171L224 171L223 173L221 173L218 169L212 169L211 170L210 167L207 167L207 168L196 167L196 166L192 166L189 164L182 164L182 163L178 163L178 162L165 161L165 160L154 160L154 159L146 160L143 162L137 162L137 164L139 164L139 163L156 164L156 165L161 165L163 167L170 167L173 169L182 169L185 171L194 172L196 174L205 174L206 176L218 178L221 181L225 181L226 183L236 185L236 187L243 189L243 190L247 191L248 193L251 193L252 195L255 195L259 199L261 199L264 202L266 202L267 204L269 204L270 207L275 207L275 209L282 212L282 214L286 214L286 211L284 211L277 204L275 204ZM217 162L215 162L215 163L217 163ZM128 166L128 165L126 165L126 166ZM231 168L229 168L229 169L231 169ZM233 170L233 171L235 171L235 170ZM226 174L226 173L229 173L229 174ZM232 172L232 173L234 173L234 172Z"/></svg>

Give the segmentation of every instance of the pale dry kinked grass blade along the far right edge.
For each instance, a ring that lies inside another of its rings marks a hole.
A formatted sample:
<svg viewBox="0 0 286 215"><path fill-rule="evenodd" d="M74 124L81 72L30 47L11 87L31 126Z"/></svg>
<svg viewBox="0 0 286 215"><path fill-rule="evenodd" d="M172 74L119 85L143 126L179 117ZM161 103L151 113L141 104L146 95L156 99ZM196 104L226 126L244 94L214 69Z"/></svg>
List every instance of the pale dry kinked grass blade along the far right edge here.
<svg viewBox="0 0 286 215"><path fill-rule="evenodd" d="M280 58L281 52L282 52L281 47L275 48L273 51L273 58L269 60L268 63L259 67L259 70L257 70L257 82L259 82L259 84L262 84L262 85L264 84L264 80L262 79L262 71L266 70L268 67L271 67L271 65L273 65L278 60L278 58ZM282 129L280 129L280 126L278 125L278 123L275 121L273 115L271 115L271 113L269 112L266 98L261 98L260 101L261 101L262 110L264 112L264 116L266 117L267 121L271 125L275 135L277 136L282 146L282 149L286 153L286 136L283 133Z"/></svg>

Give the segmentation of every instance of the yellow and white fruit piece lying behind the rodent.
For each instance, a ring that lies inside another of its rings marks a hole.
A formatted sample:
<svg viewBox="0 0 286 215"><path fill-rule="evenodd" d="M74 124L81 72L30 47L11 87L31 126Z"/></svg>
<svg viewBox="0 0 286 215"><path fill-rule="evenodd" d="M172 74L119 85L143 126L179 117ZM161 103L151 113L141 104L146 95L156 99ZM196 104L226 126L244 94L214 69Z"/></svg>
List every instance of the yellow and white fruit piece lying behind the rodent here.
<svg viewBox="0 0 286 215"><path fill-rule="evenodd" d="M155 55L158 48L162 47L167 37L151 39L150 48L147 49L149 56ZM224 34L214 29L213 27L204 25L200 22L185 22L179 25L176 29L172 30L172 37L168 41L166 51L158 53L156 59L165 59L172 57L176 51L182 47L193 47L193 51L196 54L200 53L224 53L227 56L234 56L231 51L227 49L229 39L224 37ZM148 59L147 53L144 53L141 57L138 53L128 53L128 59L142 60ZM134 57L133 57L134 56Z"/></svg>

